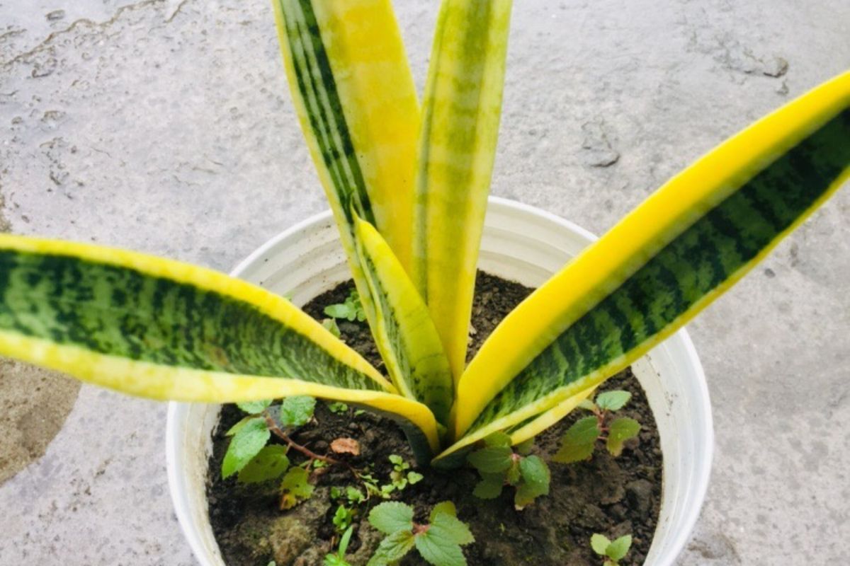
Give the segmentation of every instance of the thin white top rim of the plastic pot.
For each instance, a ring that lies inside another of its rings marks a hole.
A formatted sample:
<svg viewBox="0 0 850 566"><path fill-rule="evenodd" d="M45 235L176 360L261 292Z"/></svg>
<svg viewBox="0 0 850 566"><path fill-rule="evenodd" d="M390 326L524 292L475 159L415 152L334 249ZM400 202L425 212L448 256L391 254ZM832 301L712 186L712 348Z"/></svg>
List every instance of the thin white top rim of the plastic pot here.
<svg viewBox="0 0 850 566"><path fill-rule="evenodd" d="M553 223L565 227L574 233L581 234L581 236L590 241L598 239L596 235L587 231L585 228L578 226L572 221L565 220L564 218L551 212L547 212L546 210L541 210L535 206L526 205L512 199L490 196L488 198L488 211L490 210L517 210L552 221ZM240 261L239 264L230 272L230 275L233 277L240 277L241 274L249 268L249 266L252 266L258 258L266 255L269 252L269 249L275 248L281 240L290 238L293 234L302 232L309 227L331 221L331 216L331 210L325 210L318 214L314 214L313 216L309 216L305 220L297 222L292 227L278 233L255 249L244 260ZM693 534L694 525L700 517L700 512L706 499L706 492L711 479L711 468L714 456L714 422L711 413L711 397L708 390L708 384L706 383L706 374L702 364L700 363L700 357L697 354L694 343L690 339L687 330L685 328L681 328L662 342L661 345L674 340L678 343L677 345L683 349L683 353L689 361L691 369L696 377L694 384L696 385L699 395L695 399L698 405L695 408L704 416L700 420L701 430L699 430L698 433L700 434L700 437L705 440L705 442L703 442L700 446L700 451L694 454L694 459L703 462L703 464L699 468L695 468L694 474L692 474L689 478L689 485L687 488L689 491L694 493L693 502L695 504L684 512L684 518L679 521L680 527L677 529L677 534L672 538L672 541L667 542L667 545L673 550L673 552L670 552L669 555L677 557L681 554L685 545L690 540L691 535ZM177 429L179 426L178 412L182 410L181 407L184 405L186 404L175 401L168 403L166 425L168 490L172 498L174 513L178 518L180 529L183 531L186 540L189 542L195 558L201 560L201 557L205 555L205 548L198 536L195 534L195 528L189 510L178 503L181 501L180 494L188 488L184 475L179 473L180 469L178 468L177 463L179 459L178 451L180 450L177 442Z"/></svg>

